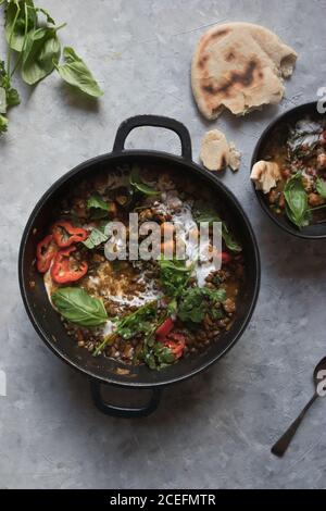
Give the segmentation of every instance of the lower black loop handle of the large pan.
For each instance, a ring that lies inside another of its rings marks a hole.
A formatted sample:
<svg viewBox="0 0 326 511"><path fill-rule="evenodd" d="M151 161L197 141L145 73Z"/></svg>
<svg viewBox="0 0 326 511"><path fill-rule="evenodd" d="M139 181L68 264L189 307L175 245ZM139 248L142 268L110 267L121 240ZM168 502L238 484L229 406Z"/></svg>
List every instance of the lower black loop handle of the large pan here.
<svg viewBox="0 0 326 511"><path fill-rule="evenodd" d="M152 396L147 404L139 408L130 407L117 407L103 401L101 392L101 384L96 379L90 381L90 394L95 406L100 412L105 415L124 417L124 419L139 419L145 417L153 413L160 404L161 390L159 388L152 388Z"/></svg>

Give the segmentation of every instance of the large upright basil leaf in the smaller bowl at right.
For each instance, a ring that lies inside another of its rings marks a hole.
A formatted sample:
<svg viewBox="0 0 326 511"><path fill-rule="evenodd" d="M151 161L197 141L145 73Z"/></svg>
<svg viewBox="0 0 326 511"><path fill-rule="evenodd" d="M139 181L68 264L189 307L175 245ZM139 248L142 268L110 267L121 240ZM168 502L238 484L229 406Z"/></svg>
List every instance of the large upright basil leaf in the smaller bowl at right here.
<svg viewBox="0 0 326 511"><path fill-rule="evenodd" d="M289 220L302 228L309 224L308 196L302 183L302 174L298 172L285 185L286 213Z"/></svg>

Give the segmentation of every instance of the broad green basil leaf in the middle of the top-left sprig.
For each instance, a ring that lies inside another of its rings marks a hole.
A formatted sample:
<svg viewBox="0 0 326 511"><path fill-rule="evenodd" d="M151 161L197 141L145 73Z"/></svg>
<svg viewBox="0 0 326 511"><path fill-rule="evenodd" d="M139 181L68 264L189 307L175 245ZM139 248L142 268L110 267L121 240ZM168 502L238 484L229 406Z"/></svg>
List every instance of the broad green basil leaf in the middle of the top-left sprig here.
<svg viewBox="0 0 326 511"><path fill-rule="evenodd" d="M61 53L58 29L42 27L28 34L22 67L22 78L26 84L37 84L58 64Z"/></svg>

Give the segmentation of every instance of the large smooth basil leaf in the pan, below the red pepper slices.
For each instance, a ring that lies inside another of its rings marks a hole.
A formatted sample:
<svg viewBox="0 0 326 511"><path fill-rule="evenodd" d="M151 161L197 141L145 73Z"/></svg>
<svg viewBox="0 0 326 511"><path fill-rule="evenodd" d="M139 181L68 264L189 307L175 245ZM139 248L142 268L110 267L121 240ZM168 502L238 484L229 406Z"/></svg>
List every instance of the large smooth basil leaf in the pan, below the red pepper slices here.
<svg viewBox="0 0 326 511"><path fill-rule="evenodd" d="M92 327L108 321L102 300L89 296L80 287L62 287L51 298L60 314L76 325Z"/></svg>

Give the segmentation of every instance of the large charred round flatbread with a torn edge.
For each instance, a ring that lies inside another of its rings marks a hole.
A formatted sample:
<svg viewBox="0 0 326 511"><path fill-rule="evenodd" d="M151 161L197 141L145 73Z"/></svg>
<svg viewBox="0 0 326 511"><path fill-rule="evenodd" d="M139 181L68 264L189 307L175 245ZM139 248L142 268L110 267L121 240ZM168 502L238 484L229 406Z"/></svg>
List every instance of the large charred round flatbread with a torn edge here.
<svg viewBox="0 0 326 511"><path fill-rule="evenodd" d="M191 85L201 113L217 119L224 109L244 115L278 103L297 60L276 34L252 23L226 23L209 29L198 42Z"/></svg>

